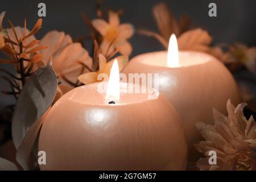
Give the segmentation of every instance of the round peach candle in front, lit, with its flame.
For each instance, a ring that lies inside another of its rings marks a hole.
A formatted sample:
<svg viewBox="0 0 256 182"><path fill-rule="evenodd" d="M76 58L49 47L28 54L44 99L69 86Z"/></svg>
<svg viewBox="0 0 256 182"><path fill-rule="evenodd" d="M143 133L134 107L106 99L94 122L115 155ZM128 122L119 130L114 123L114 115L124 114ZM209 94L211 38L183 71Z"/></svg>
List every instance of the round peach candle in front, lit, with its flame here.
<svg viewBox="0 0 256 182"><path fill-rule="evenodd" d="M108 84L106 94L99 84ZM150 100L150 92L123 92L128 86L136 85L119 83L114 61L109 82L80 86L61 97L40 132L39 151L46 152L40 169L185 169L187 143L175 109L162 94Z"/></svg>

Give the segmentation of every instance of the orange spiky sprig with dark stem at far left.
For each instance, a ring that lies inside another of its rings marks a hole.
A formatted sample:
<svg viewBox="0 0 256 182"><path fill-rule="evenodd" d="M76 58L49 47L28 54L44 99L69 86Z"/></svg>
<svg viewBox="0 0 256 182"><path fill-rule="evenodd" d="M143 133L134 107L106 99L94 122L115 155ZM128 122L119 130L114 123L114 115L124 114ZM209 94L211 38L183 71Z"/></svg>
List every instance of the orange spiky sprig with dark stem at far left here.
<svg viewBox="0 0 256 182"><path fill-rule="evenodd" d="M4 91L5 94L13 94L15 98L18 98L18 94L22 89L19 82L22 85L25 84L26 78L31 75L32 67L34 63L42 60L43 55L38 53L43 49L46 49L47 46L39 46L39 40L32 39L31 37L36 34L42 27L42 19L38 19L35 26L32 28L31 32L26 32L26 19L24 20L24 32L23 35L18 35L14 24L9 20L11 26L11 34L14 35L14 39L10 38L9 32L2 28L2 19L5 16L5 13L0 15L0 50L5 53L8 57L7 59L0 59L2 64L15 64L17 75L13 75L6 69L0 69L1 72L6 73L8 76L2 76L4 80L9 82L11 86L11 92ZM28 34L27 34L28 33ZM27 42L29 40L29 42ZM24 63L26 62L26 63Z"/></svg>

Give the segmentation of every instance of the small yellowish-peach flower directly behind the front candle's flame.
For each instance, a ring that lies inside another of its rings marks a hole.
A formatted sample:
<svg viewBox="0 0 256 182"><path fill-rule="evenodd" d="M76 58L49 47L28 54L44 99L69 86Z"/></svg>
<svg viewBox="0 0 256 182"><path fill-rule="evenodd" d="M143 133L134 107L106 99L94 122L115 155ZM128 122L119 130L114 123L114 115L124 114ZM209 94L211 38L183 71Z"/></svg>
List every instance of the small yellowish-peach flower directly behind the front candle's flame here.
<svg viewBox="0 0 256 182"><path fill-rule="evenodd" d="M79 81L83 84L90 84L93 82L98 82L101 80L98 80L98 75L101 73L106 73L106 75L110 75L110 69L112 68L112 64L114 60L116 59L118 62L119 71L122 71L122 69L126 66L128 63L128 57L127 56L118 56L115 59L107 62L106 57L100 54L99 56L99 69L97 72L89 72L84 73L79 76Z"/></svg>

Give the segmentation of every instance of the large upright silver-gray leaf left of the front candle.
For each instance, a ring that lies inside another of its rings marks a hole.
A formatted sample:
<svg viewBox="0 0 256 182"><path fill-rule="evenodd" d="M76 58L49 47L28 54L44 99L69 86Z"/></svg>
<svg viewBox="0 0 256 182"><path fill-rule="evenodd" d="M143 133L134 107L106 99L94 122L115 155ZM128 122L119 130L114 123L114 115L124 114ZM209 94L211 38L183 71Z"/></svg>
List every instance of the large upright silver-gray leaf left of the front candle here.
<svg viewBox="0 0 256 182"><path fill-rule="evenodd" d="M28 78L13 114L12 136L17 149L22 143L27 130L51 106L57 90L57 77L51 61L39 68Z"/></svg>

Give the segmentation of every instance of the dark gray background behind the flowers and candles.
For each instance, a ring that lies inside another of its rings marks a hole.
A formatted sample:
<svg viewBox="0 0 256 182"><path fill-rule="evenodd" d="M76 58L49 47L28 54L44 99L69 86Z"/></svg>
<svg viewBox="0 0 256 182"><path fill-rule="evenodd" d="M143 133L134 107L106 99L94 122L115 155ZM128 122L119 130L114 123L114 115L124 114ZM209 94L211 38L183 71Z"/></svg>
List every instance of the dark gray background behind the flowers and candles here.
<svg viewBox="0 0 256 182"><path fill-rule="evenodd" d="M44 2L47 6L47 16L43 18L43 27L36 34L36 38L42 38L48 31L60 30L70 34L73 38L88 34L81 13L85 13L89 18L96 17L96 1L86 0L55 0L55 1L3 1L0 3L0 12L7 11L4 27L9 27L7 18L15 26L23 26L24 18L27 18L29 29L38 19L38 3ZM193 24L206 28L214 38L214 43L234 43L243 42L249 46L256 45L256 1L255 0L105 0L102 7L109 7L113 10L123 9L121 22L130 22L135 28L147 28L157 31L154 18L152 16L152 6L159 2L166 2L176 18L180 15L191 16ZM210 2L217 4L217 18L208 16L208 5ZM134 51L131 57L143 52L157 51L163 49L153 38L147 38L135 34L130 39ZM6 67L0 65L0 67ZM7 85L0 81L1 89ZM3 102L9 100L0 94L0 107ZM10 102L10 101L8 101Z"/></svg>

